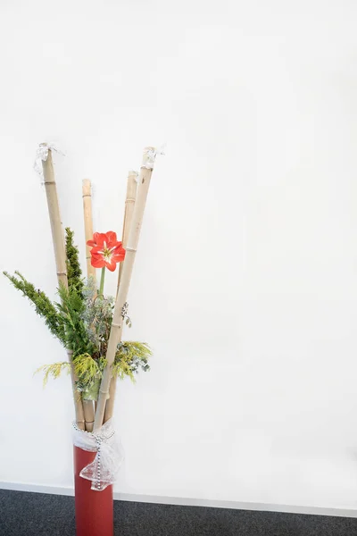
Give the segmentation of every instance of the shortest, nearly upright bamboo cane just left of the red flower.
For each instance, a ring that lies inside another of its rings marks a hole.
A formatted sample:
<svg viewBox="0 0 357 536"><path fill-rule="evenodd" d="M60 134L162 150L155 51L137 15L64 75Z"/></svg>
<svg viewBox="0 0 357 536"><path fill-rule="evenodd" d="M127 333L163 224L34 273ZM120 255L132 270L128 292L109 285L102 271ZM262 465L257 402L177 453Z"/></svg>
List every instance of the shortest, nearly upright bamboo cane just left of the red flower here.
<svg viewBox="0 0 357 536"><path fill-rule="evenodd" d="M93 239L93 219L92 219L92 188L90 180L85 179L82 183L83 197L83 216L84 230L86 236L86 258L87 258L87 278L93 277L95 280L95 267L91 264L90 247L87 246L87 241ZM93 400L83 398L84 418L86 420L86 430L93 431L95 423L95 406Z"/></svg>

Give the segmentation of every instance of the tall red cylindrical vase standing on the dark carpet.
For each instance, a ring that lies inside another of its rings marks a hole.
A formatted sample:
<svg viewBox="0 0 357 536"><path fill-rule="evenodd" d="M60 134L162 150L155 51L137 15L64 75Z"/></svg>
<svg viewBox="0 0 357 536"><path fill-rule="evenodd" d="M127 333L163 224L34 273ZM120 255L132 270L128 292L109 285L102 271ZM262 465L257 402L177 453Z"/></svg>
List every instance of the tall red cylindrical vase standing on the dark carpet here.
<svg viewBox="0 0 357 536"><path fill-rule="evenodd" d="M79 476L94 459L95 452L74 447L76 536L113 536L112 486L103 491L91 490L91 482Z"/></svg>

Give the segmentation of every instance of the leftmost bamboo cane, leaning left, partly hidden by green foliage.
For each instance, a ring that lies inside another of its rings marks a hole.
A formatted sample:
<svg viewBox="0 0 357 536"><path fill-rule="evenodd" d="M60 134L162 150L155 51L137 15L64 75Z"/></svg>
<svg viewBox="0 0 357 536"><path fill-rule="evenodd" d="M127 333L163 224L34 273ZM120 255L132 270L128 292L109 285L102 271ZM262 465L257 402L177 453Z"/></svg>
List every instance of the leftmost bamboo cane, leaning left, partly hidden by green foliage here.
<svg viewBox="0 0 357 536"><path fill-rule="evenodd" d="M54 243L54 259L56 264L58 283L62 283L64 287L68 288L67 281L67 266L66 266L66 250L64 248L64 236L62 230L60 205L58 203L57 188L54 180L54 163L52 162L52 152L48 149L48 155L46 161L42 161L42 167L44 170L44 181L46 188L46 197L48 205L48 214L50 217L52 240ZM79 398L79 393L76 389L75 382L77 378L73 371L73 365L71 361L71 351L67 352L68 360L71 363L71 381L74 399L74 408L76 413L76 422L80 430L84 430L84 414L82 400Z"/></svg>

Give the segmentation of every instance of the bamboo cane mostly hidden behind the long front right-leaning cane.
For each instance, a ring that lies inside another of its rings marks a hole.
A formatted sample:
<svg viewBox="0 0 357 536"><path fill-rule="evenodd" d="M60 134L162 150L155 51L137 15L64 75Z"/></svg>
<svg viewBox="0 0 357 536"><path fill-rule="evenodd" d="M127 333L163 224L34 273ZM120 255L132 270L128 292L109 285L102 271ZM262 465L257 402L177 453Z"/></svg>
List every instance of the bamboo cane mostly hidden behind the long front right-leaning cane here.
<svg viewBox="0 0 357 536"><path fill-rule="evenodd" d="M137 196L137 173L129 172L128 182L127 182L127 197L125 199L125 212L124 212L124 222L123 222L123 232L122 232L122 243L124 249L127 247L129 239L129 231L131 226L131 221L134 213L135 198ZM122 272L123 263L120 263L119 274L118 274L118 289L120 286L121 272ZM121 324L119 340L122 336L123 324ZM111 386L109 388L109 398L106 401L105 405L105 414L104 414L104 423L106 423L111 417L114 409L115 401L115 392L117 390L117 379L112 378Z"/></svg>

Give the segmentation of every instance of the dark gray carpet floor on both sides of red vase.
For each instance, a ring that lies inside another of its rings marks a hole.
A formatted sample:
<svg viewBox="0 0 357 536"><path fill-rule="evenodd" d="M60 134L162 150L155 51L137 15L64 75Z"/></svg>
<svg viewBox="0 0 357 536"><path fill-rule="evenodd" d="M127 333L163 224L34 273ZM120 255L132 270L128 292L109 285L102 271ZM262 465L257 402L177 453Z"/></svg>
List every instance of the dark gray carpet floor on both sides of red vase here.
<svg viewBox="0 0 357 536"><path fill-rule="evenodd" d="M357 536L357 519L114 501L117 536ZM1 536L75 536L74 499L0 490Z"/></svg>

